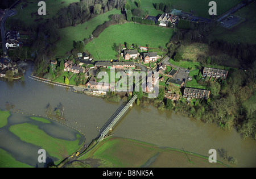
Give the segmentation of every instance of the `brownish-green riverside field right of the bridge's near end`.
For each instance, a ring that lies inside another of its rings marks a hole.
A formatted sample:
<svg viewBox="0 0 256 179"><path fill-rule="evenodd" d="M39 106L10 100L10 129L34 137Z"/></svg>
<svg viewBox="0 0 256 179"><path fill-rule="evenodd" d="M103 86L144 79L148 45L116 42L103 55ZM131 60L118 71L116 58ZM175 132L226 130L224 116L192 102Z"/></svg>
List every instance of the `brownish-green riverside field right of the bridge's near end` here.
<svg viewBox="0 0 256 179"><path fill-rule="evenodd" d="M137 140L110 137L102 140L80 160L93 167L226 167L209 163L208 157L178 149L160 148Z"/></svg>

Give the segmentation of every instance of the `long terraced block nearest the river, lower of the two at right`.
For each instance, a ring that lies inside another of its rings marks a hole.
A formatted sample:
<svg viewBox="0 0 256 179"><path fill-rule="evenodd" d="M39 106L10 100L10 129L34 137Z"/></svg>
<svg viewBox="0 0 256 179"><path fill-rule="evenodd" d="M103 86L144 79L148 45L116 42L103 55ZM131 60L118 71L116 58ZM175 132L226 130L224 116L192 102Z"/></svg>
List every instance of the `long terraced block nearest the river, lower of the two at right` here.
<svg viewBox="0 0 256 179"><path fill-rule="evenodd" d="M208 99L210 96L209 90L196 89L196 88L185 88L184 89L184 98L205 98Z"/></svg>

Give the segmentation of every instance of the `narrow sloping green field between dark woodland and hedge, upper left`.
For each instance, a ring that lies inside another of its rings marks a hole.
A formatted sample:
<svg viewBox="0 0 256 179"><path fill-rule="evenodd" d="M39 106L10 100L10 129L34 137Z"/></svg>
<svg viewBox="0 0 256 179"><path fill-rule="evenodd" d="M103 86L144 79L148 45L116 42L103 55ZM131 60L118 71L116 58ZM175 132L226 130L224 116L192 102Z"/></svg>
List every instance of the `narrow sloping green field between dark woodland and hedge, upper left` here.
<svg viewBox="0 0 256 179"><path fill-rule="evenodd" d="M82 41L90 38L92 32L97 26L104 24L109 20L109 16L112 14L121 14L120 10L113 9L104 14L100 14L88 22L78 24L76 27L65 27L59 29L60 40L57 41L56 56L65 56L65 53L71 51L73 48L73 41Z"/></svg>

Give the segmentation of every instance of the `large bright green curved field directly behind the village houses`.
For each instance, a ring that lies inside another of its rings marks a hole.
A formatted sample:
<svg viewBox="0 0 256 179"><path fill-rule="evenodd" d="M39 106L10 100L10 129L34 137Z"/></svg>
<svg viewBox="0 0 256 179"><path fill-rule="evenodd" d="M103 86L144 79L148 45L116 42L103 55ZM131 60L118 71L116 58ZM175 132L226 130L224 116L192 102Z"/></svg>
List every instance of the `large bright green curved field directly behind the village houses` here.
<svg viewBox="0 0 256 179"><path fill-rule="evenodd" d="M86 44L85 48L93 55L94 60L110 60L118 54L113 49L114 43L118 45L128 42L144 47L150 44L151 48L159 48L159 46L166 48L166 43L170 41L173 32L172 28L159 26L134 23L116 24L106 28L98 38Z"/></svg>

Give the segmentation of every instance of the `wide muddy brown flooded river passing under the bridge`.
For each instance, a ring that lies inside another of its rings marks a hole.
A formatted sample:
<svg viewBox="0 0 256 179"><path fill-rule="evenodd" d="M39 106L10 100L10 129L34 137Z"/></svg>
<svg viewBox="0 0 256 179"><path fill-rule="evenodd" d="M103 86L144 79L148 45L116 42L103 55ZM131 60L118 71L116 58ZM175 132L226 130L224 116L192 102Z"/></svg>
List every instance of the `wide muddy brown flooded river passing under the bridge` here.
<svg viewBox="0 0 256 179"><path fill-rule="evenodd" d="M102 127L121 105L32 80L28 78L30 74L31 68L28 68L24 82L0 81L0 109L5 110L6 102L9 102L15 105L14 109L46 115L48 104L53 108L61 104L64 106L66 124L82 131L86 136L86 144L96 138L98 127ZM159 111L154 107L146 111L134 103L121 122L114 127L113 135L160 147L184 149L204 156L210 155L209 149L224 148L230 156L237 159L237 165L222 161L218 155L217 160L234 167L256 166L255 140L242 140L235 129L224 131L215 124L204 124L172 111Z"/></svg>

